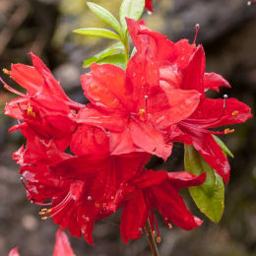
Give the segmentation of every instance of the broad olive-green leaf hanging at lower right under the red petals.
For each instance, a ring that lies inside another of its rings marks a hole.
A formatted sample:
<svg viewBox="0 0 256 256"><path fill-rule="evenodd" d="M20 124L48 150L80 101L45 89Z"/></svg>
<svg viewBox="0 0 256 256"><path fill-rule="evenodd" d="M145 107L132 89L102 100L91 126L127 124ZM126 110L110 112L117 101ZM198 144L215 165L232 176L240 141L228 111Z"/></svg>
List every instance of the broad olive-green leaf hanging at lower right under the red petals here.
<svg viewBox="0 0 256 256"><path fill-rule="evenodd" d="M200 186L190 187L189 193L199 210L210 220L219 223L224 213L223 178L200 156L193 146L185 146L185 170L199 175L206 171L206 181Z"/></svg>

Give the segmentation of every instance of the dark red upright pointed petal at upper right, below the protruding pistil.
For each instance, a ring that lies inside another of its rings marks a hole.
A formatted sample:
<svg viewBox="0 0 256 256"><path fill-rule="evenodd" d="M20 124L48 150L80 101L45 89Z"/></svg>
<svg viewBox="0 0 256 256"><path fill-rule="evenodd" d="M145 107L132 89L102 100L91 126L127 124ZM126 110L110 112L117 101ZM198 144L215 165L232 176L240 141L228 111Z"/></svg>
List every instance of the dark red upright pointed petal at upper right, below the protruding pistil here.
<svg viewBox="0 0 256 256"><path fill-rule="evenodd" d="M204 78L205 74L205 52L202 46L198 46L197 50L191 56L189 64L183 71L184 90L197 90L204 96Z"/></svg>

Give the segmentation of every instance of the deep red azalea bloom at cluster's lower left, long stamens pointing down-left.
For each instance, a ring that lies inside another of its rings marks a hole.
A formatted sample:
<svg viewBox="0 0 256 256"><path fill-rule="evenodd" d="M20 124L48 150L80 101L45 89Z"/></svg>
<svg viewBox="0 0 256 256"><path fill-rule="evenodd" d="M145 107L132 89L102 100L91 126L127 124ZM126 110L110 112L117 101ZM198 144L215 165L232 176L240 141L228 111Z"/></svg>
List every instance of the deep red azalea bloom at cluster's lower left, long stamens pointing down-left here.
<svg viewBox="0 0 256 256"><path fill-rule="evenodd" d="M95 221L117 210L125 182L146 164L149 155L109 157L107 133L87 125L73 134L70 148L75 157L59 151L54 141L46 143L27 129L24 133L27 147L15 153L14 159L22 165L28 198L43 206L43 220L52 218L77 237L82 232L93 244Z"/></svg>

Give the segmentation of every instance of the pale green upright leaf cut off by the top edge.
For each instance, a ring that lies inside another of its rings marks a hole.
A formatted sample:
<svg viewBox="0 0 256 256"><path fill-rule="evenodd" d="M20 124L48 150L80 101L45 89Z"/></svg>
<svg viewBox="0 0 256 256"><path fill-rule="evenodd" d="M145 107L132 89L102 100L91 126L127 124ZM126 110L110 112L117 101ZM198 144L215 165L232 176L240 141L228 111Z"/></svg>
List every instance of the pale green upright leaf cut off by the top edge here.
<svg viewBox="0 0 256 256"><path fill-rule="evenodd" d="M123 32L126 32L127 25L125 18L139 20L145 7L145 0L124 0L120 7L119 15Z"/></svg>

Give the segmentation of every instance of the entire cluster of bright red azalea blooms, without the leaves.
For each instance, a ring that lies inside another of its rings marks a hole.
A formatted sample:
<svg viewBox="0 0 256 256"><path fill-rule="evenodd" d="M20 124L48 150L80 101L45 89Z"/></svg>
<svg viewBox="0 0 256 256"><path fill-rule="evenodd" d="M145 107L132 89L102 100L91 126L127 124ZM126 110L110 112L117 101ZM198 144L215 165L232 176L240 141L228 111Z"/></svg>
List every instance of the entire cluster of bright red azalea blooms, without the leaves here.
<svg viewBox="0 0 256 256"><path fill-rule="evenodd" d="M206 174L146 169L151 156L166 160L173 142L194 148L228 181L229 164L213 134L215 128L244 122L250 108L235 98L212 99L208 90L229 88L221 75L205 73L202 45L176 43L127 19L137 52L127 69L93 64L81 77L84 105L65 95L59 82L35 55L32 66L5 70L27 90L5 107L18 124L26 147L13 158L28 198L74 236L93 244L96 221L122 209L124 242L141 236L147 221L159 232L154 209L165 224L189 230L202 224L187 209L178 191L198 186Z"/></svg>

